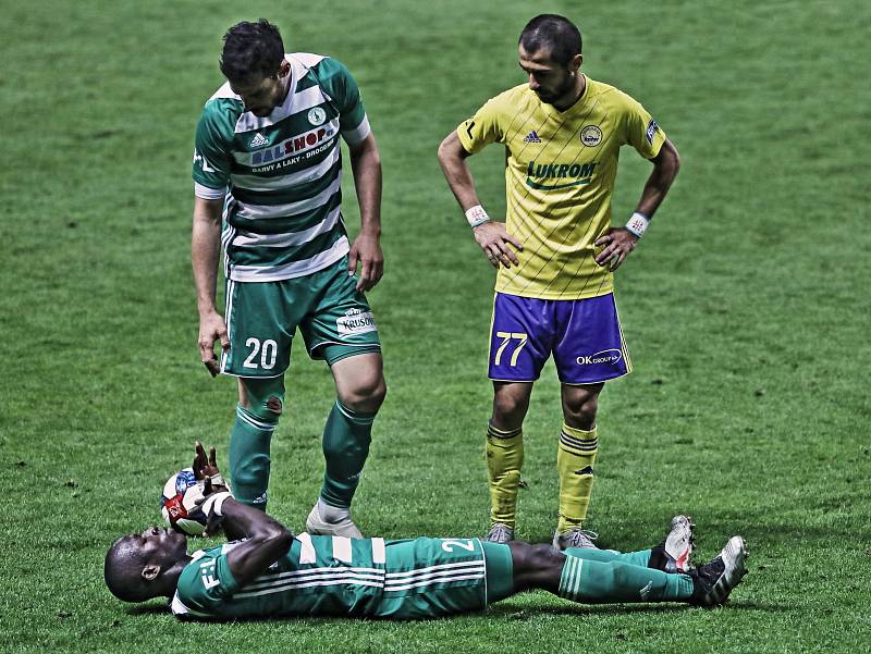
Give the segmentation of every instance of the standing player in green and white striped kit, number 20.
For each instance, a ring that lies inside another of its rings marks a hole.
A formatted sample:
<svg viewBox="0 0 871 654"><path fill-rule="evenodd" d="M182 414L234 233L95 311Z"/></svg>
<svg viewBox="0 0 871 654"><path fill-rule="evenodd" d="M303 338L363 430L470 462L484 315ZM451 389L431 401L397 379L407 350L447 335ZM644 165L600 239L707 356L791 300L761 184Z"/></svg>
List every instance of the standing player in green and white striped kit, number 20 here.
<svg viewBox="0 0 871 654"><path fill-rule="evenodd" d="M196 131L192 259L203 362L212 374L238 378L233 490L266 509L270 441L298 328L311 358L330 366L338 395L323 431L323 486L306 527L361 538L349 507L387 393L363 295L383 270L375 137L348 70L328 57L285 53L266 20L228 30L221 72L228 82L206 102ZM360 207L353 245L341 212L340 136ZM223 317L216 308L221 246Z"/></svg>

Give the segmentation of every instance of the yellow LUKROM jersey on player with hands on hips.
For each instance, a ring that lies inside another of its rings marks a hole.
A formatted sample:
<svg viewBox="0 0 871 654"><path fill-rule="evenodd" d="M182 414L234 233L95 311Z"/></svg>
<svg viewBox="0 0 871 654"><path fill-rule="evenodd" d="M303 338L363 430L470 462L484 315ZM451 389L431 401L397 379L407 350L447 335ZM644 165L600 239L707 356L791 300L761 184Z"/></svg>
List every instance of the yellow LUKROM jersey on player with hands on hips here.
<svg viewBox="0 0 871 654"><path fill-rule="evenodd" d="M593 242L611 225L619 148L646 159L665 134L623 91L587 77L584 95L560 111L526 84L487 101L457 127L466 151L506 149L506 227L523 243L519 266L500 268L495 289L541 299L598 297L613 275L596 263Z"/></svg>

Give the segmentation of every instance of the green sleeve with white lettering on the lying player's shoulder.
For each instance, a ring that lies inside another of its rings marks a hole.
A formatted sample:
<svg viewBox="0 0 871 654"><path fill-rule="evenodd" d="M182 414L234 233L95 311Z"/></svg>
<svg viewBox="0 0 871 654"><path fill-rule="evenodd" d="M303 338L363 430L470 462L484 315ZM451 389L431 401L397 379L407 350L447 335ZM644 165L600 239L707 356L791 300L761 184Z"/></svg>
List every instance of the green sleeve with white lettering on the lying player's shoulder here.
<svg viewBox="0 0 871 654"><path fill-rule="evenodd" d="M238 590L226 562L228 547L216 547L195 557L179 577L172 613L180 618L211 617Z"/></svg>

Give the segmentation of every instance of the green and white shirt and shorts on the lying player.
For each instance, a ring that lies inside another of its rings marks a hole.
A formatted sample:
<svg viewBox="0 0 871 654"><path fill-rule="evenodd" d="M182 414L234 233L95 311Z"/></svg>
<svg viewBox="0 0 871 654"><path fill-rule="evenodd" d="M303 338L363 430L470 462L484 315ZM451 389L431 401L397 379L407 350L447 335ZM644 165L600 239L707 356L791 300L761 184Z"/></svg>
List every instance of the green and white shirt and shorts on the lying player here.
<svg viewBox="0 0 871 654"><path fill-rule="evenodd" d="M240 587L226 555L194 553L170 604L179 618L268 616L428 618L487 606L478 539L385 541L300 533L267 572Z"/></svg>

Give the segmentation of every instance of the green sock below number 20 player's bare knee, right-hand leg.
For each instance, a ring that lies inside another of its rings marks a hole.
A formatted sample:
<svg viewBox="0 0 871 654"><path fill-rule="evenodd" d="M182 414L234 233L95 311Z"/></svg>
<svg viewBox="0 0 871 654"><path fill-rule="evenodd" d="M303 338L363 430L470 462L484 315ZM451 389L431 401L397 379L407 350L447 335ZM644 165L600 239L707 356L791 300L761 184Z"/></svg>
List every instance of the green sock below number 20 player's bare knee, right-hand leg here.
<svg viewBox="0 0 871 654"><path fill-rule="evenodd" d="M323 428L323 457L327 471L320 498L323 504L347 509L369 456L375 414L353 411L338 399Z"/></svg>

